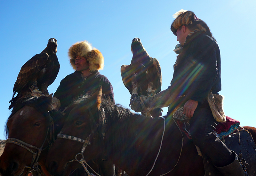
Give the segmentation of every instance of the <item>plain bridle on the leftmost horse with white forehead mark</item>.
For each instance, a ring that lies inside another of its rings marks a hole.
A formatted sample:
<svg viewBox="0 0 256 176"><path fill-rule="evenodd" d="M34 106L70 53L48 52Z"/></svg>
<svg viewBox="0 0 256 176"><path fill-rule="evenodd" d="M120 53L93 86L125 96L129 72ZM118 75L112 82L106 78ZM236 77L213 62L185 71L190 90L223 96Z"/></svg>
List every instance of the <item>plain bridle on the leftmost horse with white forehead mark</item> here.
<svg viewBox="0 0 256 176"><path fill-rule="evenodd" d="M32 171L36 171L38 173L41 173L42 172L40 171L40 169L38 168L38 159L39 159L39 156L41 154L41 152L43 150L45 150L46 148L50 147L52 145L52 143L54 142L54 136L53 136L53 132L54 132L54 122L53 122L53 119L52 119L52 116L50 115L49 111L48 111L48 114L47 114L47 117L50 119L50 124L47 128L47 133L46 133L46 136L44 138L44 142L43 144L41 145L40 148L36 147L36 146L33 146L31 144L28 144L22 140L19 140L19 139L16 139L16 138L8 138L5 142L5 144L7 143L12 143L12 144L15 144L15 145L18 145L20 147L23 147L25 149L27 149L30 153L32 153L33 157L32 157L32 161L30 163L30 166L25 166L25 168L28 168L28 171L26 172L25 175L28 175L29 172L32 172ZM50 140L48 139L48 134L50 133ZM48 145L46 147L44 147L44 143L45 141L48 142ZM44 148L43 148L44 147ZM34 152L33 150L31 150L30 148L33 148L33 149L36 149L37 151Z"/></svg>

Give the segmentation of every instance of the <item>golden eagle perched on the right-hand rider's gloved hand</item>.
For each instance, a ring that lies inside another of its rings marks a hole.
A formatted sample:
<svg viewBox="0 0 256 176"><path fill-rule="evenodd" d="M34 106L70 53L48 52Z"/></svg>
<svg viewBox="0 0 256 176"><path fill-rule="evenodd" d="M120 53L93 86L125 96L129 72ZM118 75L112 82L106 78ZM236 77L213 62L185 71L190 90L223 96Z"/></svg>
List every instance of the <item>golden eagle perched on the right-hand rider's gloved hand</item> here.
<svg viewBox="0 0 256 176"><path fill-rule="evenodd" d="M132 61L121 66L121 76L125 87L131 93L131 100L140 95L155 95L161 91L162 77L158 60L148 55L139 38L132 40ZM146 115L144 111L142 115ZM151 116L162 115L161 108L150 111Z"/></svg>

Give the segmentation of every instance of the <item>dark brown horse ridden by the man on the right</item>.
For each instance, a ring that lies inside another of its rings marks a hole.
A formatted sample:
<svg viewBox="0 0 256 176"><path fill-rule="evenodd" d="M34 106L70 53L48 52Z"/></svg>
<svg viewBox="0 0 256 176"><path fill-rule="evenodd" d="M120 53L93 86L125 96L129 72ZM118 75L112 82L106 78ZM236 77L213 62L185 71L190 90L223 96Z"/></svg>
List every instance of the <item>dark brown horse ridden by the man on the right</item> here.
<svg viewBox="0 0 256 176"><path fill-rule="evenodd" d="M52 175L67 176L79 163L86 169L86 161L103 153L130 176L204 176L202 156L174 120L141 116L101 99L101 94L100 87L69 107L46 158L46 169ZM256 128L250 128L256 137ZM255 159L247 166L253 175Z"/></svg>

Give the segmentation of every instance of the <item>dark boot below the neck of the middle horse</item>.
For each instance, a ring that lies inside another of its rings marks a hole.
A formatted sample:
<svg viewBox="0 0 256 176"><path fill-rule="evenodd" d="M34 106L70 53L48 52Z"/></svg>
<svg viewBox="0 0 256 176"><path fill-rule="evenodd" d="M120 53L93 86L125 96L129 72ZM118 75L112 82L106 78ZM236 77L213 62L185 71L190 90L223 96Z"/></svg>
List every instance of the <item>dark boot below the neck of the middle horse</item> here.
<svg viewBox="0 0 256 176"><path fill-rule="evenodd" d="M99 159L98 164L100 166L100 170L102 173L101 175L115 176L115 165L111 161L105 160L105 159Z"/></svg>

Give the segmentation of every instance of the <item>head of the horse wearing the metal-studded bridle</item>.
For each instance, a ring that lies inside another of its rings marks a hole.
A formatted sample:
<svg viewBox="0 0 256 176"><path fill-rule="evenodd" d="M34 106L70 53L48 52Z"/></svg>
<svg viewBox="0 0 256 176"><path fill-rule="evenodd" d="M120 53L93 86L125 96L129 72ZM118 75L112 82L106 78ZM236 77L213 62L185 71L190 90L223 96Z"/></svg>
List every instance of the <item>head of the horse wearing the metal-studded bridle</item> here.
<svg viewBox="0 0 256 176"><path fill-rule="evenodd" d="M67 117L61 132L50 148L46 158L46 169L52 175L69 175L79 167L78 161L97 158L96 151L104 131L105 112L101 106L101 86L90 98L80 97L66 110ZM99 134L98 132L102 133Z"/></svg>

